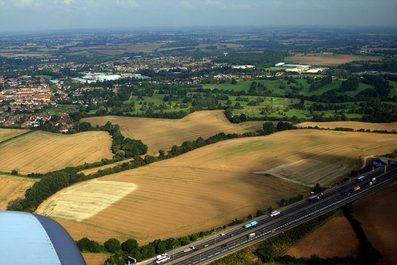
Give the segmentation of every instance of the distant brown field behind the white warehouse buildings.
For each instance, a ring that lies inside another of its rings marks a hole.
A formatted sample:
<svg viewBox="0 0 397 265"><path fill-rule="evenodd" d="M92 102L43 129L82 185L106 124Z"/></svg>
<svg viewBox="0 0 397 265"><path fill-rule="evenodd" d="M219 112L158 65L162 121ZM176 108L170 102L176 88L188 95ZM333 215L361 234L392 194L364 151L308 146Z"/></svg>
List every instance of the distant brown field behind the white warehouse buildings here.
<svg viewBox="0 0 397 265"><path fill-rule="evenodd" d="M365 55L349 55L337 54L329 56L290 56L285 57L285 62L294 64L315 65L315 66L338 66L352 61L382 60L382 56L365 56Z"/></svg>

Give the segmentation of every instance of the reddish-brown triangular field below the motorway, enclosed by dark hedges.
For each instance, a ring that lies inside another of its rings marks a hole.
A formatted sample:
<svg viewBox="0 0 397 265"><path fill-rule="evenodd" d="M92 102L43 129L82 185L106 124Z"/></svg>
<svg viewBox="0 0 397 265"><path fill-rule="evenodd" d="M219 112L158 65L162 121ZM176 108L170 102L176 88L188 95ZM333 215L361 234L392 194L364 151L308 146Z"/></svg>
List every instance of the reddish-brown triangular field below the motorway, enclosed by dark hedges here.
<svg viewBox="0 0 397 265"><path fill-rule="evenodd" d="M309 259L317 254L320 258L352 256L358 259L360 242L346 217L335 217L293 246L287 255Z"/></svg>

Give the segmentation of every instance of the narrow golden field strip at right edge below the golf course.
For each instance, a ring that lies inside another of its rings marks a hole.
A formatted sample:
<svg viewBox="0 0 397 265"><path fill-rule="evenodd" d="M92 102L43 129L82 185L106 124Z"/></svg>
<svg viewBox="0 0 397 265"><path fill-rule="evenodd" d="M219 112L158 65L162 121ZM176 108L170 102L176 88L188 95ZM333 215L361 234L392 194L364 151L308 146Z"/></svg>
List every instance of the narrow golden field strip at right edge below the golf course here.
<svg viewBox="0 0 397 265"><path fill-rule="evenodd" d="M392 131L397 130L397 122L396 123L362 123L362 122L328 122L328 123L314 123L314 122L305 122L296 125L297 127L315 127L318 126L320 128L325 129L335 129L336 127L342 128L352 128L354 131L359 129L369 129L372 131L380 130L380 131Z"/></svg>

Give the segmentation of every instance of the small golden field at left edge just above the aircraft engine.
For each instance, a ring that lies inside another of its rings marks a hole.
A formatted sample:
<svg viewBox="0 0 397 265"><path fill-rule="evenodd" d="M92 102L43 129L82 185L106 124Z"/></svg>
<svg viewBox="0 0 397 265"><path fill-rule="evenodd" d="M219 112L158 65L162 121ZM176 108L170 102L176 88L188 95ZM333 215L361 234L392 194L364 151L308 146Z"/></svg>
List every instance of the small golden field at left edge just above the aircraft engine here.
<svg viewBox="0 0 397 265"><path fill-rule="evenodd" d="M0 210L5 210L11 199L24 198L25 191L36 181L39 179L0 174Z"/></svg>

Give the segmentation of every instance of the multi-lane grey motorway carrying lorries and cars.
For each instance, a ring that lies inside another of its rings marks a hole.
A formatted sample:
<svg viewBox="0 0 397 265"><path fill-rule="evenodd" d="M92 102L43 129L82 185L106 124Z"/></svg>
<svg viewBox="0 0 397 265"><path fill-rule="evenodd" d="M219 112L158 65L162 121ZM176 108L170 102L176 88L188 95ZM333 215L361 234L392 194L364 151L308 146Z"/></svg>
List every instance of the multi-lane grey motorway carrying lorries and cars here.
<svg viewBox="0 0 397 265"><path fill-rule="evenodd" d="M392 163L387 166L387 173L384 173L383 168L378 168L375 171L366 173L364 181L358 182L356 179L340 184L332 189L323 192L320 199L304 199L290 206L279 209L280 214L270 217L264 215L253 220L258 221L258 225L251 228L244 228L244 224L235 226L231 229L219 231L219 233L199 240L194 243L195 251L184 253L183 250L188 249L185 246L169 252L171 260L161 264L169 265L203 265L211 261L219 259L233 253L234 251L243 249L250 245L256 244L266 238L269 238L278 233L282 233L294 226L309 221L323 213L338 208L347 202L364 197L386 185L389 185L397 180L397 164ZM376 183L369 185L372 178L376 178ZM353 192L354 187L360 186L360 190ZM224 236L220 236L224 233ZM255 233L256 236L248 239L247 235ZM234 236L231 236L234 234ZM208 245L204 247L204 245ZM223 247L222 247L223 245ZM226 245L226 246L225 246ZM144 261L140 264L153 264L155 259Z"/></svg>

